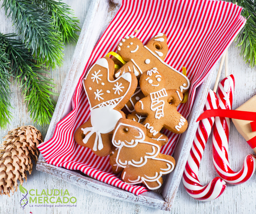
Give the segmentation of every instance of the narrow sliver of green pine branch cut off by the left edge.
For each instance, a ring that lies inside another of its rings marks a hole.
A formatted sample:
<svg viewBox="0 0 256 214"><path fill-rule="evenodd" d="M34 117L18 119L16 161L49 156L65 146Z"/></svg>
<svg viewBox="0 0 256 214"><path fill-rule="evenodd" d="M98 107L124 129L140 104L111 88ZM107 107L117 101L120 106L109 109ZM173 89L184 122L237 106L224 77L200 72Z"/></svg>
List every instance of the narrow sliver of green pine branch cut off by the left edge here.
<svg viewBox="0 0 256 214"><path fill-rule="evenodd" d="M0 34L1 36L1 34ZM0 37L0 127L5 128L7 124L10 124L10 119L12 118L11 112L12 108L10 103L10 73L9 64L10 60L8 55L5 53L5 45L2 43Z"/></svg>

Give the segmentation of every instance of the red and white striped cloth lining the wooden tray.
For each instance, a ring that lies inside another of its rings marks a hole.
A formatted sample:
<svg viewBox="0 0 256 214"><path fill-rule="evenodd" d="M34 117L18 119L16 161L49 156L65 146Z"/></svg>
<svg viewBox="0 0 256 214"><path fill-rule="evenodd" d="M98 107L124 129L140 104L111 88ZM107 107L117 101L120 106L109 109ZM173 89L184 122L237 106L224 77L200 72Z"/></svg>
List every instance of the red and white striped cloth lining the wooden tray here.
<svg viewBox="0 0 256 214"><path fill-rule="evenodd" d="M108 157L97 157L90 149L74 142L77 127L90 117L82 79L87 70L110 51L115 51L119 40L134 35L143 44L163 32L167 36L169 52L165 62L182 71L187 68L191 82L189 100L179 106L188 117L196 88L204 81L222 53L233 42L245 24L242 8L222 1L123 0L123 4L95 46L78 81L73 97L73 110L55 128L53 137L38 146L45 161L58 167L80 170L84 174L134 194L147 191L143 186L127 185L111 173ZM134 30L138 29L138 32ZM162 153L173 154L179 135L165 131L169 143Z"/></svg>

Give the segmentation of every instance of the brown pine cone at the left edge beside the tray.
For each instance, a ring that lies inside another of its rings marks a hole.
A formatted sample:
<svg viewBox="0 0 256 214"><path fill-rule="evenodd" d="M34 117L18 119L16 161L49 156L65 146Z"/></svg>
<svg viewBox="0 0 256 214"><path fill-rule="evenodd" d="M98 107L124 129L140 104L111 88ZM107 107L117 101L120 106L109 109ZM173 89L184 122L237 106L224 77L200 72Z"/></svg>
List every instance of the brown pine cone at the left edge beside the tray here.
<svg viewBox="0 0 256 214"><path fill-rule="evenodd" d="M33 163L37 161L37 146L42 142L42 135L34 126L21 126L12 129L3 137L0 146L0 195L8 195L18 190L18 181L27 181L26 171L31 174Z"/></svg>

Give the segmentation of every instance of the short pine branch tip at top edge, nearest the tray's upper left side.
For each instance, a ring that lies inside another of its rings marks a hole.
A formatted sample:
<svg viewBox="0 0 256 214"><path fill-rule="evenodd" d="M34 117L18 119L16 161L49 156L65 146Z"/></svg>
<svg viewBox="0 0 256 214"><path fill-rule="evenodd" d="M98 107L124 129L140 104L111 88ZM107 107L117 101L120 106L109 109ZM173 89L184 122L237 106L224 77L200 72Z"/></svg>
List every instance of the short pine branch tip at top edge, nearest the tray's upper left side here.
<svg viewBox="0 0 256 214"><path fill-rule="evenodd" d="M54 20L53 26L61 32L62 42L64 44L77 42L78 35L76 31L81 30L77 25L79 20L74 17L73 10L66 3L59 0L37 0L37 3L41 3L43 9Z"/></svg>

